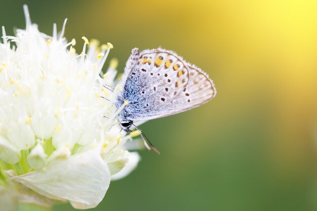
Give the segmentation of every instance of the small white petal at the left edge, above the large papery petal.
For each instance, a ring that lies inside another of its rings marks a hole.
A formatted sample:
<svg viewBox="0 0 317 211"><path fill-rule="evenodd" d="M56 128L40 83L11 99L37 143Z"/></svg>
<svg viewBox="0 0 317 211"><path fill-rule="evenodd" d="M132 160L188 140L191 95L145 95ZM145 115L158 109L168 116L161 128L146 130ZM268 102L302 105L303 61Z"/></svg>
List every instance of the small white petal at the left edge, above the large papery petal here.
<svg viewBox="0 0 317 211"><path fill-rule="evenodd" d="M20 150L2 136L0 136L0 159L12 164L21 159Z"/></svg>

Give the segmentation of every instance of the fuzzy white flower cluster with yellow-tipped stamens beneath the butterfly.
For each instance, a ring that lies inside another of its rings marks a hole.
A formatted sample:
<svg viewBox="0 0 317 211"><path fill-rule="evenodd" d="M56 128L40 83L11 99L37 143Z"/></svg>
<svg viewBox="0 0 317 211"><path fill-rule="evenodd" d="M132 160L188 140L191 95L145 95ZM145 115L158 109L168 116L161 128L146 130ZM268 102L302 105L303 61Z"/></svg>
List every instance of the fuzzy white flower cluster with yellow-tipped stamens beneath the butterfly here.
<svg viewBox="0 0 317 211"><path fill-rule="evenodd" d="M101 72L112 45L83 37L76 54L75 40L63 37L66 20L49 36L24 12L26 29L7 36L3 27L0 42L0 203L95 207L111 176L124 177L139 161L125 150L131 137L121 132L116 96L104 87L115 85L115 61Z"/></svg>

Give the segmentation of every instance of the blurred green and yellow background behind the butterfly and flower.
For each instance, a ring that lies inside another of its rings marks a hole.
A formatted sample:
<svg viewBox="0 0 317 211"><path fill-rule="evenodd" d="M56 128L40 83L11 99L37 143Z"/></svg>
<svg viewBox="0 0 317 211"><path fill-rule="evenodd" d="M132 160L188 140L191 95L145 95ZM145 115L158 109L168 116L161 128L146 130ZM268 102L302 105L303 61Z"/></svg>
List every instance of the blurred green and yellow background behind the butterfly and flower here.
<svg viewBox="0 0 317 211"><path fill-rule="evenodd" d="M215 82L208 104L141 126L161 155L141 151L94 210L317 210L316 1L1 1L7 34L23 4L45 33L68 18L77 45L111 42L120 71L162 46Z"/></svg>

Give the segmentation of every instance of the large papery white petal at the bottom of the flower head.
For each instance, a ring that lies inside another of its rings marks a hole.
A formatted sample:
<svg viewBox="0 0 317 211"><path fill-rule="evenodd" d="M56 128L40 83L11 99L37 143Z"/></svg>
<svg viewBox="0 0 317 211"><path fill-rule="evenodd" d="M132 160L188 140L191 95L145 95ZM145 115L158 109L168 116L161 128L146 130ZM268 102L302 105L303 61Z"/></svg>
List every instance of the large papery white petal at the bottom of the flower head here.
<svg viewBox="0 0 317 211"><path fill-rule="evenodd" d="M99 153L90 150L15 180L49 198L67 199L75 208L92 208L104 197L110 173Z"/></svg>

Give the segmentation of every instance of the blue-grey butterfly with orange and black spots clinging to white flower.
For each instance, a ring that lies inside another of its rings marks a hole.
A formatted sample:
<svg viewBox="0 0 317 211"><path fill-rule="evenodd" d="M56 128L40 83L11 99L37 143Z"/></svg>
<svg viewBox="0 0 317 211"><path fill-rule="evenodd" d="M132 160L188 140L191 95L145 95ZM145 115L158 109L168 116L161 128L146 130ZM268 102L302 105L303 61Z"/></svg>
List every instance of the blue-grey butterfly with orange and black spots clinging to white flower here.
<svg viewBox="0 0 317 211"><path fill-rule="evenodd" d="M143 121L180 113L200 106L216 95L213 81L200 68L189 64L175 52L161 48L132 49L115 105L122 108L121 128L140 132L145 146L159 151L149 142L134 121Z"/></svg>

